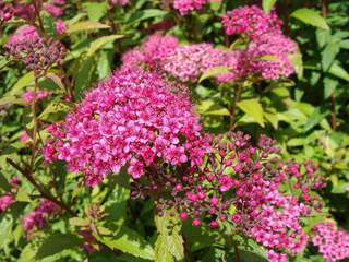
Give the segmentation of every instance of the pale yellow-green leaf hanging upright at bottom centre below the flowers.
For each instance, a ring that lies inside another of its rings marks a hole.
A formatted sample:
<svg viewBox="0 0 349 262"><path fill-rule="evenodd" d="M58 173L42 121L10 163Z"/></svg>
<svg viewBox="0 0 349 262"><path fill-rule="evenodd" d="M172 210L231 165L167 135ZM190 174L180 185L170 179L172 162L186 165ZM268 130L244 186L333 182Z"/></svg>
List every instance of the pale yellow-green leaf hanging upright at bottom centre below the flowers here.
<svg viewBox="0 0 349 262"><path fill-rule="evenodd" d="M163 252L169 257L173 255L177 261L184 259L183 238L180 234L181 222L176 216L170 216L170 211L164 212L164 216L155 216L155 225L158 231L157 245L165 248L164 250L157 247L158 252L155 258L157 261L161 260ZM165 243L165 245L164 245ZM165 247L164 247L165 246Z"/></svg>

